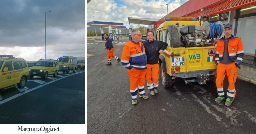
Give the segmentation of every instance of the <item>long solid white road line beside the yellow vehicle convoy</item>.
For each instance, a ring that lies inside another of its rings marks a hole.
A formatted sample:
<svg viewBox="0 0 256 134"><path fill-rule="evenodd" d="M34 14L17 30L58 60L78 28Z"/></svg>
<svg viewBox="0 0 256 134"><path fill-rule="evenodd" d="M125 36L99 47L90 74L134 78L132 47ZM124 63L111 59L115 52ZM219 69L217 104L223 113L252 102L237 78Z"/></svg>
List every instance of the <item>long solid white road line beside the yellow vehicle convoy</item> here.
<svg viewBox="0 0 256 134"><path fill-rule="evenodd" d="M79 73L82 73L82 72L79 72ZM78 73L75 73L75 74L78 74ZM71 74L71 75L75 75L75 74ZM71 75L69 75L69 76L71 76ZM31 88L31 89L29 89L29 90L26 90L26 91L24 91L24 92L22 92L22 93L19 93L19 94L16 94L16 95L12 96L12 97L9 97L9 98L7 98L7 99L4 99L4 100L0 101L0 105L3 104L3 103L5 103L5 102L8 102L8 101L10 101L10 100L12 100L12 99L15 99L15 98L17 98L17 97L19 97L19 96L21 96L21 95L23 95L23 94L29 93L29 92L31 92L31 91L33 91L33 90L36 90L36 89L40 88L40 87L43 87L43 86L48 85L48 84L51 84L52 82L61 80L61 79L63 79L63 78L69 77L69 76L65 76L65 77L62 77L62 78L58 78L58 79L52 80L52 81L50 81L50 82L44 83L44 84L39 85L39 86L37 86L37 87Z"/></svg>

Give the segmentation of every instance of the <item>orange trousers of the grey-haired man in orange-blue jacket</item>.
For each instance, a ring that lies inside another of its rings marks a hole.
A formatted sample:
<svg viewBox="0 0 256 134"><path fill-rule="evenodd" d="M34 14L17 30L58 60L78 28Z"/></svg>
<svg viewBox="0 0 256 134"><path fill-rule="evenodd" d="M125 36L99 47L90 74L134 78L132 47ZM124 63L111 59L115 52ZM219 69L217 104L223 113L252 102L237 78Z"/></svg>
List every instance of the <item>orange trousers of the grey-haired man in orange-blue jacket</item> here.
<svg viewBox="0 0 256 134"><path fill-rule="evenodd" d="M145 85L145 76L146 69L137 70L133 68L131 71L128 69L128 76L130 78L130 92L132 95L132 99L137 98L138 90L140 95L145 95L144 85Z"/></svg>

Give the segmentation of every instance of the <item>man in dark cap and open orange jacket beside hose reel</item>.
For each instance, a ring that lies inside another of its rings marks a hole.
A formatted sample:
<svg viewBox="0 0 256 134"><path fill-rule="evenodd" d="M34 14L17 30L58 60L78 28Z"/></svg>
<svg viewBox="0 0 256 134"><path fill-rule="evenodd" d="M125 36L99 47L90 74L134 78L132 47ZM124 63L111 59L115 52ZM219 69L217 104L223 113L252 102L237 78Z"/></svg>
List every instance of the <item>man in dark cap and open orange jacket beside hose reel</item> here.
<svg viewBox="0 0 256 134"><path fill-rule="evenodd" d="M227 74L229 86L225 102L226 106L230 106L236 97L235 82L237 77L237 67L240 68L239 65L244 57L242 41L240 38L231 35L232 31L231 24L228 23L224 26L223 32L225 36L217 41L215 54L215 64L217 65L216 86L219 95L215 98L215 101L221 102L226 99L223 90L223 80Z"/></svg>

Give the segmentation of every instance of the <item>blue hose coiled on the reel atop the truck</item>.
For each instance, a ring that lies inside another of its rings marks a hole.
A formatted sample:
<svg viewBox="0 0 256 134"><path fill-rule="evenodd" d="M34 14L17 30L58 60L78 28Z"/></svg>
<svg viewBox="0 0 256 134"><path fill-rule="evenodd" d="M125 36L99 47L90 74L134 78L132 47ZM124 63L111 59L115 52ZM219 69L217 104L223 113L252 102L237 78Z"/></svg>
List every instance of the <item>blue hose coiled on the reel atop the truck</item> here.
<svg viewBox="0 0 256 134"><path fill-rule="evenodd" d="M223 30L222 30L221 24L209 23L209 27L210 27L210 31L207 39L213 39L216 32L217 32L217 37L220 37L222 35Z"/></svg>

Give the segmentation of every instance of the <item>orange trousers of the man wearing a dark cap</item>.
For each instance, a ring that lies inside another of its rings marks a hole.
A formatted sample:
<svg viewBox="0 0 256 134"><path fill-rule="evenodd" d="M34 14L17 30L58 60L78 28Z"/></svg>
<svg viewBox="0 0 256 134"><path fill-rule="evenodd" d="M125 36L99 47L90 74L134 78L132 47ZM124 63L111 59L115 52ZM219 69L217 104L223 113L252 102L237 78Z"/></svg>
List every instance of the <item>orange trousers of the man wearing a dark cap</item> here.
<svg viewBox="0 0 256 134"><path fill-rule="evenodd" d="M235 89L235 82L237 77L237 68L235 63L231 64L221 64L219 63L217 65L217 71L216 71L216 86L217 86L217 92L219 96L225 96L225 92L223 89L223 80L225 76L228 76L228 90L227 90L227 97L234 101L234 98L236 97L236 89Z"/></svg>

